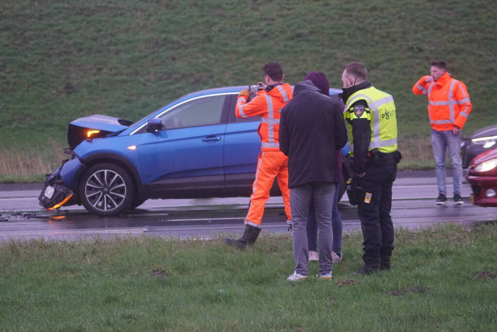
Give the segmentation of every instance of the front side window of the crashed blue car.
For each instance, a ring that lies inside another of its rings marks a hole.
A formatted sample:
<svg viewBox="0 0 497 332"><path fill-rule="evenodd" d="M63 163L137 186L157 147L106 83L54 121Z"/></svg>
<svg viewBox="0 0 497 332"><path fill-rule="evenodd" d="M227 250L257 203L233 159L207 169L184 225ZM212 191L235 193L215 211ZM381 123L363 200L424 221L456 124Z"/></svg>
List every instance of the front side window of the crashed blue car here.
<svg viewBox="0 0 497 332"><path fill-rule="evenodd" d="M210 96L188 101L161 116L164 129L207 126L221 123L225 100Z"/></svg>

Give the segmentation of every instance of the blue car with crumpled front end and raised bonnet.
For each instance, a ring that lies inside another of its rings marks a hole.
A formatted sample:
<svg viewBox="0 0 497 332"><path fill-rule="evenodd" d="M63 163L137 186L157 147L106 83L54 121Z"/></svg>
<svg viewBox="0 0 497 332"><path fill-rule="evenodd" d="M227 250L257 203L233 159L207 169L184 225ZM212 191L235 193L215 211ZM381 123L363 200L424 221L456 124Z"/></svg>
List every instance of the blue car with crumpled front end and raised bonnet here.
<svg viewBox="0 0 497 332"><path fill-rule="evenodd" d="M47 175L40 205L113 216L149 198L249 196L259 118L239 119L246 86L187 94L137 122L91 115L69 124L70 156ZM330 89L335 97L341 92ZM275 181L272 194L278 194Z"/></svg>

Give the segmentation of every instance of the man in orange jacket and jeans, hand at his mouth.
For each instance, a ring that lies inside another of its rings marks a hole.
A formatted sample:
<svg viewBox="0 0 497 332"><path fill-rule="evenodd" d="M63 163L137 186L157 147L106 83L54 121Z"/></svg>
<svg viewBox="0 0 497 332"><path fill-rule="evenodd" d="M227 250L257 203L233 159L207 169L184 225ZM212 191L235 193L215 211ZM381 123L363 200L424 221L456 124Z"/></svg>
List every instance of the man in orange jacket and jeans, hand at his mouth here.
<svg viewBox="0 0 497 332"><path fill-rule="evenodd" d="M443 61L431 63L430 75L425 75L413 86L414 94L428 96L428 117L431 124L431 145L435 158L435 175L438 183L436 204L445 204L445 151L449 149L452 176L454 179L454 202L463 204L461 197L462 161L461 130L471 112L466 85L447 73Z"/></svg>

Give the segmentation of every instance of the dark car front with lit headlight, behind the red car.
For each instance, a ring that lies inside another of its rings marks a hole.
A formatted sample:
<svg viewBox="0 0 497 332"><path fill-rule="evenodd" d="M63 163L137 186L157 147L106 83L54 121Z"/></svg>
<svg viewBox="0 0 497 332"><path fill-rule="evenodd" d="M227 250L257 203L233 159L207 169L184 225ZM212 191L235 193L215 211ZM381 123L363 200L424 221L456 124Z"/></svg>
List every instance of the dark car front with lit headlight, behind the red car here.
<svg viewBox="0 0 497 332"><path fill-rule="evenodd" d="M468 168L473 158L482 152L497 148L497 125L475 131L461 143L463 168Z"/></svg>

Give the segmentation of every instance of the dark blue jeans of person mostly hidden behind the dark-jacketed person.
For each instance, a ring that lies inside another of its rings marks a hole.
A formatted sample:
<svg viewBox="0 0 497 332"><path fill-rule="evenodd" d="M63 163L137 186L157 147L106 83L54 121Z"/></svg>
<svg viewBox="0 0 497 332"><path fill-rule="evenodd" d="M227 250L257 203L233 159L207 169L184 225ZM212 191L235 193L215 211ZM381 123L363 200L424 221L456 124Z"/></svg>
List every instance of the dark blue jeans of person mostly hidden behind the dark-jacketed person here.
<svg viewBox="0 0 497 332"><path fill-rule="evenodd" d="M333 208L331 210L331 228L333 229L333 247L332 250L340 255L342 225L341 216L338 211L338 186L336 186L335 196L333 198ZM318 225L316 223L316 208L314 200L309 204L309 217L307 220L307 247L309 250L318 251Z"/></svg>

